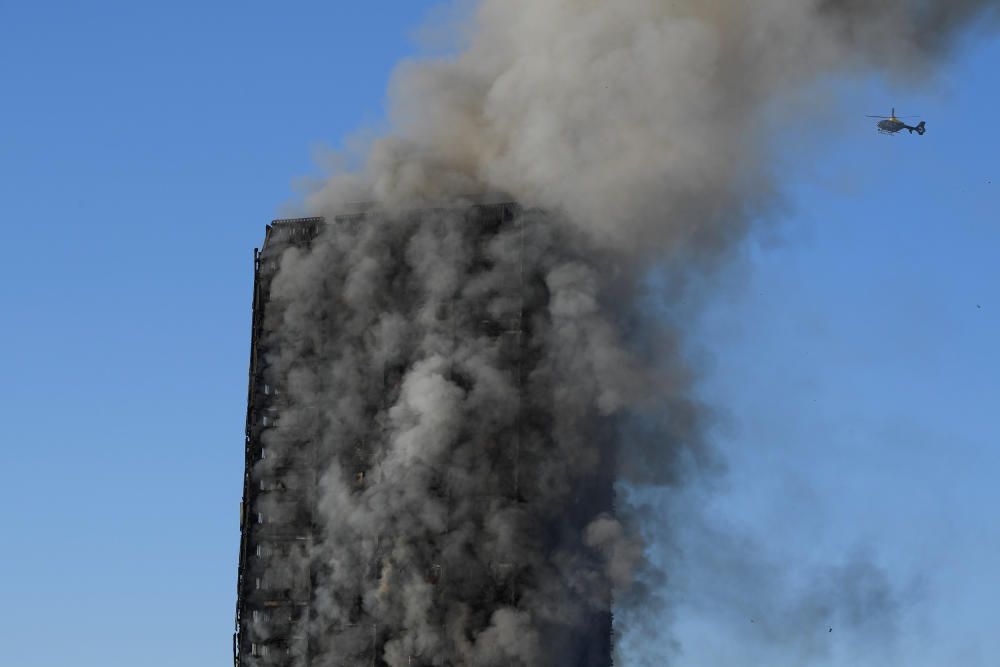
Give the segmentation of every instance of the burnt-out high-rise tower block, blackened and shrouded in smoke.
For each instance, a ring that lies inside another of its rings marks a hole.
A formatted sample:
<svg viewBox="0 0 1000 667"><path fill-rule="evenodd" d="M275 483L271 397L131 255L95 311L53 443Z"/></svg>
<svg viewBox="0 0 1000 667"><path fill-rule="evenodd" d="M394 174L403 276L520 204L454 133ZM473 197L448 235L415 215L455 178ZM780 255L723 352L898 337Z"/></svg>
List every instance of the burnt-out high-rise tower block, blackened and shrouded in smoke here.
<svg viewBox="0 0 1000 667"><path fill-rule="evenodd" d="M613 447L559 415L536 223L505 203L268 225L235 667L611 664Z"/></svg>

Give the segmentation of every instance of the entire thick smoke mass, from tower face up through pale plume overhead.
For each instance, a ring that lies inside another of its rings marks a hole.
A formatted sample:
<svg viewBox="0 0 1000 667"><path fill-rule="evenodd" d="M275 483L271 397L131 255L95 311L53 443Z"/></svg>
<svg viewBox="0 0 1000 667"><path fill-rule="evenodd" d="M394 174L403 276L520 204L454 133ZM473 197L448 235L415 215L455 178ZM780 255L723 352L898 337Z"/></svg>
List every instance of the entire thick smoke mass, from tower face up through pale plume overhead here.
<svg viewBox="0 0 1000 667"><path fill-rule="evenodd" d="M483 0L456 55L402 65L391 132L309 197L331 222L272 293L269 465L321 444L322 540L288 556L317 573L312 664L596 664L581 629L657 597L602 480L712 460L644 272L703 271L766 215L769 105L926 77L991 8ZM522 208L484 235L489 193Z"/></svg>

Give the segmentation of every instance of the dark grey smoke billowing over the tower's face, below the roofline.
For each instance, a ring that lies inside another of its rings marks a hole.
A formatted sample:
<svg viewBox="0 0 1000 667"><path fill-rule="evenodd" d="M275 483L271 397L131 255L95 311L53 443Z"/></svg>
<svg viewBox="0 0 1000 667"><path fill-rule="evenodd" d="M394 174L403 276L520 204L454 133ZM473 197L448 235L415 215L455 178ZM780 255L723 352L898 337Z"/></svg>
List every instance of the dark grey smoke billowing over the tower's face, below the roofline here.
<svg viewBox="0 0 1000 667"><path fill-rule="evenodd" d="M265 462L302 442L323 462L314 664L362 664L373 635L390 665L598 664L580 630L645 560L610 513L614 416L659 393L623 287L544 214L482 227L342 219L273 283Z"/></svg>

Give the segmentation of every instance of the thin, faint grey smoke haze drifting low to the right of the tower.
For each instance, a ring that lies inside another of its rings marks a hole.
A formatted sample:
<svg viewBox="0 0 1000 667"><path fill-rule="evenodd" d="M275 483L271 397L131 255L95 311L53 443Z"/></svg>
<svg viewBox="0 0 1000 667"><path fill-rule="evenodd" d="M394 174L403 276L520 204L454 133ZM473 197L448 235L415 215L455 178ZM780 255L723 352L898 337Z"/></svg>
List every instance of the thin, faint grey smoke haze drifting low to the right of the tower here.
<svg viewBox="0 0 1000 667"><path fill-rule="evenodd" d="M663 547L670 597L694 644L665 647L660 664L678 656L707 666L898 662L900 627L924 601L921 578L900 582L864 548L820 563L791 558L766 531L713 517L705 501L666 494L656 499L657 520L646 522L659 533L652 540ZM719 636L726 641L707 639Z"/></svg>

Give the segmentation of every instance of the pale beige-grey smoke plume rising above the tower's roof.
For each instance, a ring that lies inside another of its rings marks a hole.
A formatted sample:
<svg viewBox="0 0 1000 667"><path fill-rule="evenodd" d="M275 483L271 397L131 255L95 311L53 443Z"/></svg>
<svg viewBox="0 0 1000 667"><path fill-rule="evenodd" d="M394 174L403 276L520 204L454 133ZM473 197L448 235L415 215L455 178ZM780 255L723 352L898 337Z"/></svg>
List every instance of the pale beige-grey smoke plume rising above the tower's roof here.
<svg viewBox="0 0 1000 667"><path fill-rule="evenodd" d="M486 188L564 213L602 245L723 250L775 190L768 104L852 73L925 81L957 29L994 9L486 0L463 52L399 68L393 132L372 143L361 173L333 179L312 203L406 208Z"/></svg>

